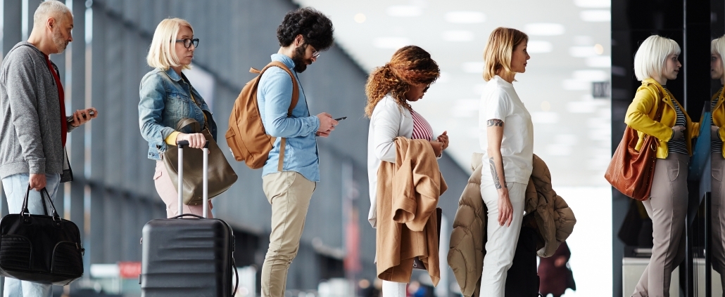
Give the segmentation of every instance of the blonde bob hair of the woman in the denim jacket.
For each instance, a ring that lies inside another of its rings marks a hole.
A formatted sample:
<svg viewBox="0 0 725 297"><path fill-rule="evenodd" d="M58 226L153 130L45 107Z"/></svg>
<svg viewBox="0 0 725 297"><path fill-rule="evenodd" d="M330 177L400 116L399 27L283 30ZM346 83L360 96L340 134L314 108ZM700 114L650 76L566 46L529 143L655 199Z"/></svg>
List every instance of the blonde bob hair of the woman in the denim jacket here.
<svg viewBox="0 0 725 297"><path fill-rule="evenodd" d="M191 69L189 65L179 64L178 56L174 51L174 45L176 44L176 35L178 35L181 27L186 26L191 29L191 33L194 33L194 28L191 24L179 18L166 19L159 22L159 25L154 31L154 38L151 40L151 46L149 47L149 55L146 56L146 63L154 68L159 68L164 71L170 67L182 66L183 69Z"/></svg>

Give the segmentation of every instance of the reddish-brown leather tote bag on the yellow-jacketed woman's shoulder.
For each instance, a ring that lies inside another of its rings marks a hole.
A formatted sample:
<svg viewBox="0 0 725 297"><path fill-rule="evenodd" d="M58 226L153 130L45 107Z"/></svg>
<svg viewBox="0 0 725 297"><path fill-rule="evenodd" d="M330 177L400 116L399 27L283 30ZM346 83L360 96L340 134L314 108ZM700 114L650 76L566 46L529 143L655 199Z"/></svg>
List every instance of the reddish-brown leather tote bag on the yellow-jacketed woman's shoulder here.
<svg viewBox="0 0 725 297"><path fill-rule="evenodd" d="M655 113L655 121L662 119L662 108L665 104L660 101L657 113ZM647 134L643 134L643 137L645 137L645 140L641 149L639 151L635 150L634 147L637 146L639 136L637 130L627 126L624 129L622 141L619 142L617 150L614 151L607 172L604 173L604 178L615 189L639 201L650 198L652 178L655 176L657 147L660 146L655 137Z"/></svg>

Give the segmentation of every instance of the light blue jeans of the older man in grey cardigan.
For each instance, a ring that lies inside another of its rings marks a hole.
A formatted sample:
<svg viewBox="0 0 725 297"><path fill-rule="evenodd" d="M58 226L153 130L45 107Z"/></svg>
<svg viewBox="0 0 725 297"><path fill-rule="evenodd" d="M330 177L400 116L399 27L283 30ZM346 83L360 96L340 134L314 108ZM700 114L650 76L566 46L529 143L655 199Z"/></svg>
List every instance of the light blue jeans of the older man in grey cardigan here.
<svg viewBox="0 0 725 297"><path fill-rule="evenodd" d="M9 213L20 213L22 200L25 199L25 191L28 190L28 178L30 178L28 173L20 173L2 179L2 187L5 191L5 196L7 196ZM59 183L60 176L58 174L46 174L46 189L54 202ZM49 205L49 202L46 202L46 205ZM35 215L43 214L41 192L30 190L28 211ZM48 210L48 214L50 213L51 210ZM5 277L3 297L51 297L52 293L52 285Z"/></svg>

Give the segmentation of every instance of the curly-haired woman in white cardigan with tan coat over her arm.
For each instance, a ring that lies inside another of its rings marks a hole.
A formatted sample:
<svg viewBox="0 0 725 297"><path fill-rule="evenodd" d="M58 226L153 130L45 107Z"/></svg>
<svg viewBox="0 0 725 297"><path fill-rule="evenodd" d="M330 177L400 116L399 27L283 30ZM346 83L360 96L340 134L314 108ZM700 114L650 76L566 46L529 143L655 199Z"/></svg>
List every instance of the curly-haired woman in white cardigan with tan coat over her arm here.
<svg viewBox="0 0 725 297"><path fill-rule="evenodd" d="M370 118L368 132L368 181L370 181L370 213L368 220L376 227L376 189L378 168L382 161L395 163L396 137L426 139L434 154L440 156L448 147L446 132L433 136L428 121L413 110L411 102L421 100L428 87L438 79L440 69L430 53L418 46L405 46L396 51L388 64L375 69L365 85ZM406 283L383 281L383 296L405 297Z"/></svg>

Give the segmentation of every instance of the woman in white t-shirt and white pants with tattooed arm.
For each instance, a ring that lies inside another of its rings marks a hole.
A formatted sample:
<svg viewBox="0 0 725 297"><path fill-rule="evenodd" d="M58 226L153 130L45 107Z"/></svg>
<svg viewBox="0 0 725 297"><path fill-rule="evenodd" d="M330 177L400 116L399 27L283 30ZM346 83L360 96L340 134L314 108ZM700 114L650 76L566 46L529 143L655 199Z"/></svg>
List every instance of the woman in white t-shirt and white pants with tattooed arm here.
<svg viewBox="0 0 725 297"><path fill-rule="evenodd" d="M504 296L504 286L521 231L526 185L533 170L534 125L513 88L516 73L526 72L529 36L496 28L484 50L488 82L479 108L479 142L490 173L481 174L481 197L488 208L486 256L481 296Z"/></svg>

